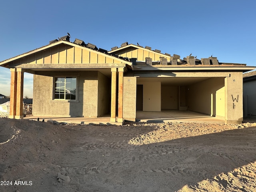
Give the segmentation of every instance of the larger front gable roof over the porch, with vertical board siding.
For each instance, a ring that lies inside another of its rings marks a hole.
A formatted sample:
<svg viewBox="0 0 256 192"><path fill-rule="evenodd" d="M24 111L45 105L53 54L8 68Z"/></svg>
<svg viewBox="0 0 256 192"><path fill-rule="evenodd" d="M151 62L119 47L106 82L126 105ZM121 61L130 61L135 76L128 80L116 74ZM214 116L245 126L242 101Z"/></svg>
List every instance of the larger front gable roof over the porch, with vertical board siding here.
<svg viewBox="0 0 256 192"><path fill-rule="evenodd" d="M81 41L81 40L80 40ZM10 59L4 60L2 62L0 62L0 66L6 67L6 68L10 68L9 64L36 64L36 62L39 60L36 58L36 56L40 57L40 59L44 58L44 52L47 52L48 50L52 50L52 49L56 49L58 50L57 52L59 52L59 48L61 47L68 47L68 48L74 48L76 50L81 50L80 52L84 51L84 52L89 52L89 55L87 57L90 57L91 55L94 55L94 57L96 59L92 60L91 63L123 63L128 65L130 68L133 68L132 66L132 62L130 62L129 60L126 60L124 58L118 57L115 54L109 54L107 53L106 50L103 49L98 49L96 48L96 46L94 46L93 44L77 44L76 42L78 42L78 39L76 39L75 42L69 42L63 39L60 40L53 40L50 41L50 44L46 45L46 46L42 46L40 48L37 48L35 50L31 50L29 52L20 54L18 56L12 57ZM63 51L63 50L62 50ZM78 51L79 52L79 51ZM50 51L49 54L52 54L52 52ZM56 54L56 51L55 51ZM75 50L74 50L74 54L75 54ZM82 55L80 55L82 57ZM66 54L67 57L67 54ZM74 62L75 62L75 56L73 56ZM43 59L44 60L44 59ZM82 60L82 59L81 59ZM52 61L52 60L51 60ZM66 62L67 62L67 58L66 58ZM83 62L79 62L81 64L83 64ZM40 64L44 64L44 62L40 61Z"/></svg>

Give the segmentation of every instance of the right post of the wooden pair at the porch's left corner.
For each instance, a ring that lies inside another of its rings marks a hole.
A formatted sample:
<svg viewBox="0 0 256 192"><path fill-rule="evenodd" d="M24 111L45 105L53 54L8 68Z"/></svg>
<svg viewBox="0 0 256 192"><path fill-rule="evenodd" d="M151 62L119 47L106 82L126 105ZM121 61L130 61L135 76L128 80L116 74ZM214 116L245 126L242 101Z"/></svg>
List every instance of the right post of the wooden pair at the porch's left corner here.
<svg viewBox="0 0 256 192"><path fill-rule="evenodd" d="M17 69L16 119L23 119L23 76L21 68Z"/></svg>

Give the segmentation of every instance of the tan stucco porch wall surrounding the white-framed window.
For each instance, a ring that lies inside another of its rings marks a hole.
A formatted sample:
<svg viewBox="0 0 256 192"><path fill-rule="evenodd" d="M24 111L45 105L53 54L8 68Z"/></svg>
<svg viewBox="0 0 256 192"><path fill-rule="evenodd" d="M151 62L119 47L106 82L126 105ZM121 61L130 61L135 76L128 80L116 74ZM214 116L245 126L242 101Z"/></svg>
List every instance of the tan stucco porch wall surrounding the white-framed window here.
<svg viewBox="0 0 256 192"><path fill-rule="evenodd" d="M54 74L54 73L49 73ZM59 73L58 73L59 74ZM63 73L65 75L67 73ZM70 75L71 73L68 73ZM53 100L54 78L34 75L33 115L97 117L109 110L109 80L98 71L79 74L77 100ZM99 89L98 87L101 87Z"/></svg>

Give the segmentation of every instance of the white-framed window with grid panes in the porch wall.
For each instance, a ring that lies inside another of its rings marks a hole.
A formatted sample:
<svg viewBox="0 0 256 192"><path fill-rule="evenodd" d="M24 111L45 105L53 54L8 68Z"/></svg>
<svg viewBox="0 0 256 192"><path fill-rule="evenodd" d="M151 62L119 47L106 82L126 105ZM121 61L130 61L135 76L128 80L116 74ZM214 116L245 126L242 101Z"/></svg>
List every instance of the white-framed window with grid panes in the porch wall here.
<svg viewBox="0 0 256 192"><path fill-rule="evenodd" d="M55 77L54 99L76 100L76 77Z"/></svg>

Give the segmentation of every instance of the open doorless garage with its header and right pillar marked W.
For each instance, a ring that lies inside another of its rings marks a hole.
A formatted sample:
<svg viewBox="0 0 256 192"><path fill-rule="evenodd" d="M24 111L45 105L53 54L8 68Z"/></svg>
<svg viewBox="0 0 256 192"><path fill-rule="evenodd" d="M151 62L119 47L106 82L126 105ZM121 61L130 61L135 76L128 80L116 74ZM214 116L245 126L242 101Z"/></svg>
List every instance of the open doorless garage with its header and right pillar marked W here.
<svg viewBox="0 0 256 192"><path fill-rule="evenodd" d="M239 98L238 102L236 100L240 92L242 93L242 78L240 78L242 71L223 70L224 67L215 67L211 70L208 68L205 72L202 72L202 68L195 67L190 71L184 68L179 69L180 71L164 69L147 73L135 72L136 106L140 106L136 109L136 119L142 119L140 115L144 119L151 119L152 113L142 112L162 112L155 114L156 119L164 119L166 111L177 113L187 110L201 114L199 116L215 117L218 118L217 121L228 123L229 111L233 113L241 104L242 98ZM230 90L239 93L232 94ZM240 116L240 113L239 110L236 115ZM184 118L190 118L190 115L193 118L192 113L186 114ZM175 117L170 115L167 119L170 118ZM240 121L242 122L242 115Z"/></svg>

